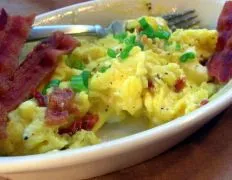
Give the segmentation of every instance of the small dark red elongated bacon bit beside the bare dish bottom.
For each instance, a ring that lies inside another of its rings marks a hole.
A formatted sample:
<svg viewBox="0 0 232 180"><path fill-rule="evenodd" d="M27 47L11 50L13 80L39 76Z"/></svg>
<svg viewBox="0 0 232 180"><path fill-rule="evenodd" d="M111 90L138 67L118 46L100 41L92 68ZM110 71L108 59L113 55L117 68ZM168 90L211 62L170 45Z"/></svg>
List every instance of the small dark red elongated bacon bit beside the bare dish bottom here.
<svg viewBox="0 0 232 180"><path fill-rule="evenodd" d="M99 117L91 113L87 113L81 119L75 120L69 127L59 130L59 134L69 134L73 135L81 129L90 131L93 129L94 125L97 123Z"/></svg>

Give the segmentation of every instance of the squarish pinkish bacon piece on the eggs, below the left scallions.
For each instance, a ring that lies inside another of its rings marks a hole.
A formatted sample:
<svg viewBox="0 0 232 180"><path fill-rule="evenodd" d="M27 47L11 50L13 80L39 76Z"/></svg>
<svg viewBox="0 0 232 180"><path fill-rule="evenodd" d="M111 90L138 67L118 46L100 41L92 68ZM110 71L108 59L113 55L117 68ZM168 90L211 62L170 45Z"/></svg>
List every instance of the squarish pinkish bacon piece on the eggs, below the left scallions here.
<svg viewBox="0 0 232 180"><path fill-rule="evenodd" d="M47 125L60 125L67 122L73 98L74 93L71 89L56 88L49 95L45 117Z"/></svg>

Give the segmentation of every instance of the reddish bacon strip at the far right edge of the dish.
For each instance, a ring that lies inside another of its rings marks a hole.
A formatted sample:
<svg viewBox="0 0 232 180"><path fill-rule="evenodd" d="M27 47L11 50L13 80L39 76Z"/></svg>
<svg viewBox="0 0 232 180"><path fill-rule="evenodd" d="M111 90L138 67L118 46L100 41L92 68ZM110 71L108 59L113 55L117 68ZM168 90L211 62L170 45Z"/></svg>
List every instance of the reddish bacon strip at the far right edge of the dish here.
<svg viewBox="0 0 232 180"><path fill-rule="evenodd" d="M207 63L209 75L225 83L232 78L232 1L227 1L218 20L216 51Z"/></svg>

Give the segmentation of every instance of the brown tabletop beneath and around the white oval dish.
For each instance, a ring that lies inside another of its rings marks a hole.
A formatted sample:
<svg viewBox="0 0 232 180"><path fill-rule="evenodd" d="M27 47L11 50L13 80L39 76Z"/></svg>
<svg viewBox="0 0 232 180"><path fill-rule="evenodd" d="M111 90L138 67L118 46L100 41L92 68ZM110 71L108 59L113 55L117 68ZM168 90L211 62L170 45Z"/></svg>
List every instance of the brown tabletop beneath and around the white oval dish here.
<svg viewBox="0 0 232 180"><path fill-rule="evenodd" d="M16 14L42 13L82 1L0 0L0 7ZM162 155L95 179L232 179L232 108Z"/></svg>

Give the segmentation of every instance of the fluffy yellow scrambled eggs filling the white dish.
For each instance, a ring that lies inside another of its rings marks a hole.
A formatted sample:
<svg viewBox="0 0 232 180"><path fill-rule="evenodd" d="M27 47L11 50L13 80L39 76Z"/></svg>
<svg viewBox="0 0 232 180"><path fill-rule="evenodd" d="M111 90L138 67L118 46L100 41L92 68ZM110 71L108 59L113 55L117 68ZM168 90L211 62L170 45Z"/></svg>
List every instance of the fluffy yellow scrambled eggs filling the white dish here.
<svg viewBox="0 0 232 180"><path fill-rule="evenodd" d="M153 29L160 26L170 32L161 18L145 17ZM96 132L112 117L119 121L146 117L149 127L183 116L201 106L219 88L210 83L204 61L215 49L217 32L207 29L177 30L168 39L149 38L136 31L138 20L128 23L127 37L140 38L142 46L133 46L128 57L120 57L126 43L109 35L102 39L82 39L81 47L63 56L51 79L61 81L59 87L70 87L73 75L82 69L67 65L67 60L81 61L91 72L88 91L76 93L75 103L82 115L95 112L99 121L92 131L81 130L73 136L60 135L59 126L44 123L46 107L35 99L23 102L8 115L8 138L0 143L2 155L25 155L77 148L99 143ZM116 56L110 57L113 49ZM194 57L186 62L180 58L188 53ZM178 80L184 87L175 90ZM182 82L183 83L183 82ZM49 89L52 92L52 88Z"/></svg>

